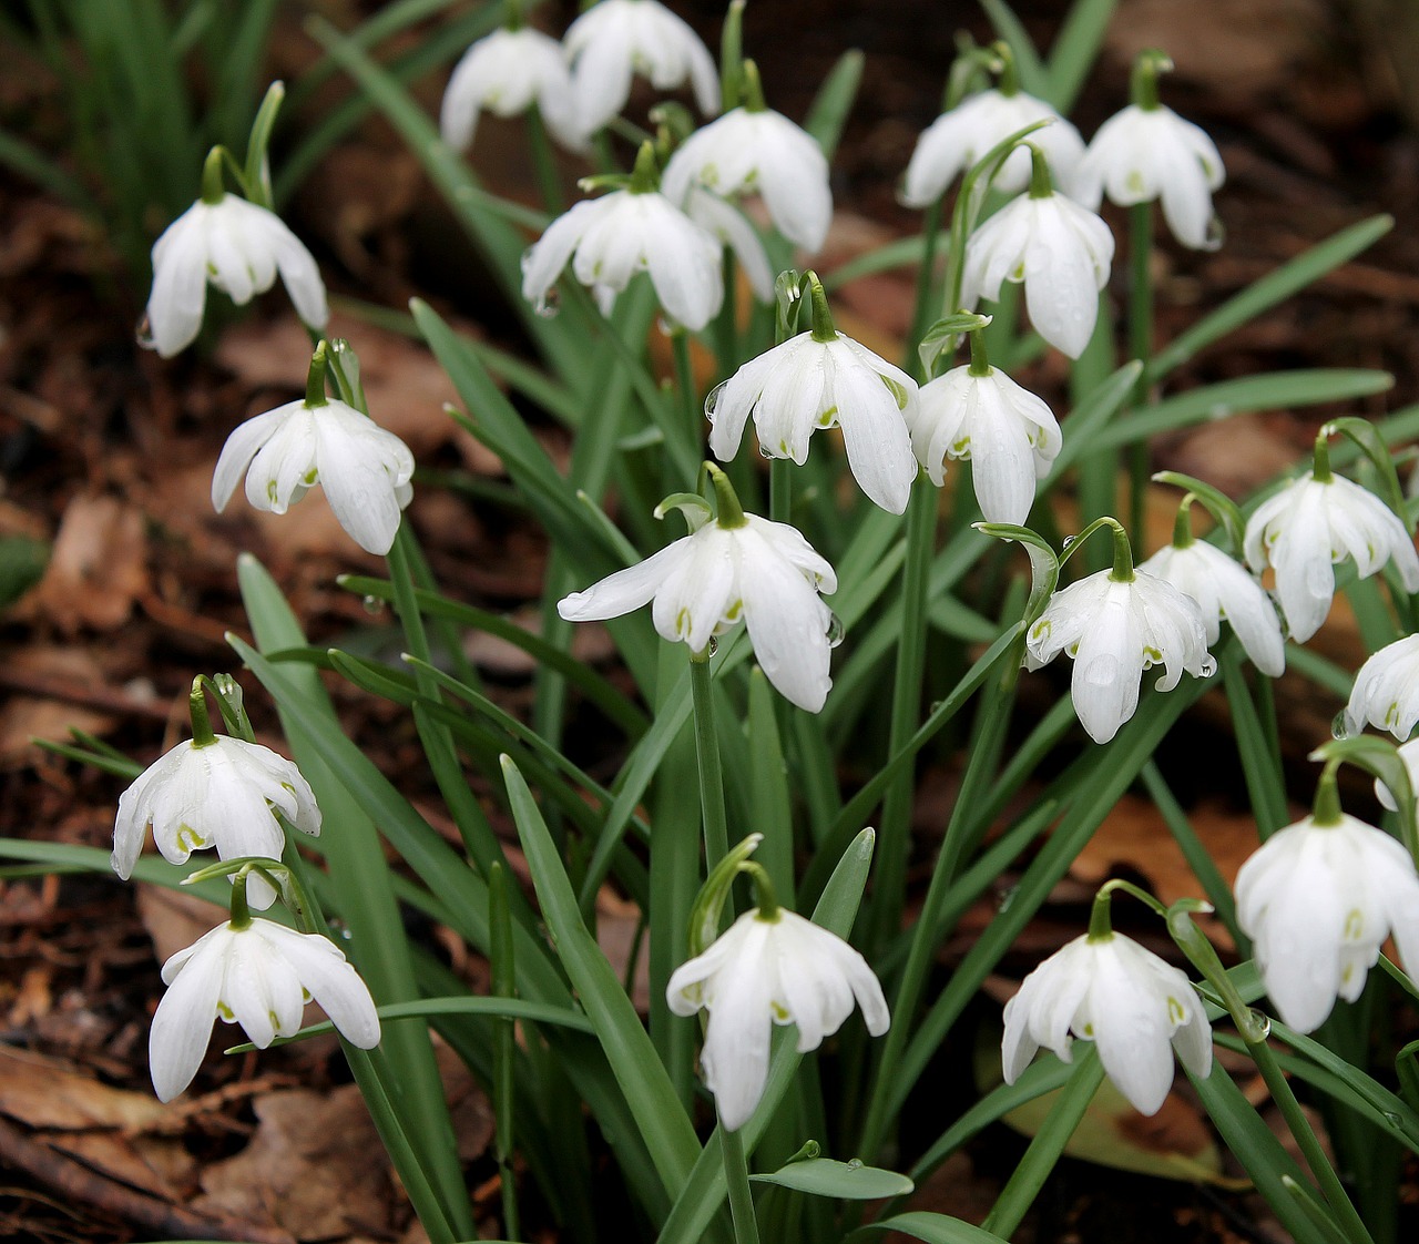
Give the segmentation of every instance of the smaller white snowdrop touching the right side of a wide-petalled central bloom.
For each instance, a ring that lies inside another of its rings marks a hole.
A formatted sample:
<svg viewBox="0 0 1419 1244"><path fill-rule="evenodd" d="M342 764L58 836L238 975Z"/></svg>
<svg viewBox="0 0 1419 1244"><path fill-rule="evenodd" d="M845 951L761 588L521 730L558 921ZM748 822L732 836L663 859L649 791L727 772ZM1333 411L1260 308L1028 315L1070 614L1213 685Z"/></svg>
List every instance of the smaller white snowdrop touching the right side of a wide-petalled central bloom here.
<svg viewBox="0 0 1419 1244"><path fill-rule="evenodd" d="M986 522L1023 523L1064 440L1049 406L990 366L981 331L969 336L971 363L921 386L911 448L937 487L946 458L969 460Z"/></svg>

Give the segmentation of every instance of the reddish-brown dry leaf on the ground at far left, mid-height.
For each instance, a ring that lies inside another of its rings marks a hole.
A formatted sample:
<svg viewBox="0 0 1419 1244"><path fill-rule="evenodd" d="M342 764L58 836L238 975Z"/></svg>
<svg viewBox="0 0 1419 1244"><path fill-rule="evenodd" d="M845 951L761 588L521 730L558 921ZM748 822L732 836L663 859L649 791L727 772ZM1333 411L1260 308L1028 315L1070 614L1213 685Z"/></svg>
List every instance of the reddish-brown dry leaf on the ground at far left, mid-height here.
<svg viewBox="0 0 1419 1244"><path fill-rule="evenodd" d="M148 587L143 515L114 496L79 494L64 509L33 610L61 631L122 626Z"/></svg>

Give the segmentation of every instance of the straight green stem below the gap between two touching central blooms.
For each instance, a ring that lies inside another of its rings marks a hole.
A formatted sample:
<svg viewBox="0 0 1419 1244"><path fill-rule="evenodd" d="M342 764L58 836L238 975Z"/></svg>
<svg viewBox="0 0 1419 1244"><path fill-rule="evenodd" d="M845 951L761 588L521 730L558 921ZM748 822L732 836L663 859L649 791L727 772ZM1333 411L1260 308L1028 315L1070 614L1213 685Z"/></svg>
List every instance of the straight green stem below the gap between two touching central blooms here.
<svg viewBox="0 0 1419 1244"><path fill-rule="evenodd" d="M927 586L937 533L937 489L931 481L912 488L907 504L907 555L901 583L901 638L897 644L897 677L893 682L891 726L887 755L895 756L917 729L921 681L927 661ZM871 957L897 932L901 922L907 858L911 854L911 806L917 789L915 766L907 765L887 787L877 838L877 885L868 923Z"/></svg>

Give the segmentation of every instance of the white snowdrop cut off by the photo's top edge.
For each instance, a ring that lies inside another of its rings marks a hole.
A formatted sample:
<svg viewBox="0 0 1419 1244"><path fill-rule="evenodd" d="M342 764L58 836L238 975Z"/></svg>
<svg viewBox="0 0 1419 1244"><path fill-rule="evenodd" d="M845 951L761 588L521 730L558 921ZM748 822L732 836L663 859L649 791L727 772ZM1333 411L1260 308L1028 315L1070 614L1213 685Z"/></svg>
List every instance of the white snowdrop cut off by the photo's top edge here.
<svg viewBox="0 0 1419 1244"><path fill-rule="evenodd" d="M688 78L700 111L719 111L714 58L700 35L656 0L600 0L568 27L562 45L583 135L596 133L626 106L631 74L650 78L657 91Z"/></svg>

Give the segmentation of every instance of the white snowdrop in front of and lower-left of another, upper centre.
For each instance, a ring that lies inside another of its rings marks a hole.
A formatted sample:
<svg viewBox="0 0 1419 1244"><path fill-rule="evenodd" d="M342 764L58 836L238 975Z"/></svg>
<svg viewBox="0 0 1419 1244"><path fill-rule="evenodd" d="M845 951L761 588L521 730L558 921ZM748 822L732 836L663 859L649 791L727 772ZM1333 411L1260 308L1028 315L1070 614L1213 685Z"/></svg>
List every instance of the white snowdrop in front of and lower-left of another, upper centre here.
<svg viewBox="0 0 1419 1244"><path fill-rule="evenodd" d="M609 302L631 277L650 272L666 313L688 329L702 329L724 301L721 247L654 184L656 157L644 143L627 189L578 203L553 220L522 257L522 296L545 313L548 292L570 260L572 274L592 287L602 309L609 311Z"/></svg>

